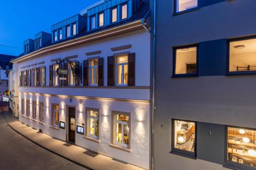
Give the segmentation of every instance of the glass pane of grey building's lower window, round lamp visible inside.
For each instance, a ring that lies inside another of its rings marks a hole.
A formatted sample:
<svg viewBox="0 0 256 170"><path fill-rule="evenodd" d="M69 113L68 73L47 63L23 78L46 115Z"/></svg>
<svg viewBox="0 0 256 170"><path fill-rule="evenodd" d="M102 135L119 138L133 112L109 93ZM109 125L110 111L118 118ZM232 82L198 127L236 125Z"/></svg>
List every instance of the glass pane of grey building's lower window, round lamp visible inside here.
<svg viewBox="0 0 256 170"><path fill-rule="evenodd" d="M174 121L174 148L195 152L195 129L193 122Z"/></svg>

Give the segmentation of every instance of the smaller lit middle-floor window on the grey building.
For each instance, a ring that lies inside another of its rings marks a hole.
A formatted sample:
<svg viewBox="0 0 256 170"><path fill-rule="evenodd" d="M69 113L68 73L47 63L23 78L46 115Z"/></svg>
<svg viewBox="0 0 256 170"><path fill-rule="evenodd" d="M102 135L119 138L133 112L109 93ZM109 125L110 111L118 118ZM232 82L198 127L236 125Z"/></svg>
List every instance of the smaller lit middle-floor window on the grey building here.
<svg viewBox="0 0 256 170"><path fill-rule="evenodd" d="M197 76L197 46L174 48L174 77Z"/></svg>

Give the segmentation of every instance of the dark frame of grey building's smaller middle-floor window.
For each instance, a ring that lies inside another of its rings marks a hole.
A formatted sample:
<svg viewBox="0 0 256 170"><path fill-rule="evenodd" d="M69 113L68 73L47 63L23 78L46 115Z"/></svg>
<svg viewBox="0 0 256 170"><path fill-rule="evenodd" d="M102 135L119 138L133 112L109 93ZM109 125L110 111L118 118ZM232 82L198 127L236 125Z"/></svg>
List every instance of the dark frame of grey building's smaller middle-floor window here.
<svg viewBox="0 0 256 170"><path fill-rule="evenodd" d="M191 47L197 47L197 72L195 74L176 74L176 51L184 48L191 48ZM199 71L199 44L192 44L192 45L185 45L185 46L175 46L173 47L173 76L172 78L183 78L183 77L198 77L198 71Z"/></svg>

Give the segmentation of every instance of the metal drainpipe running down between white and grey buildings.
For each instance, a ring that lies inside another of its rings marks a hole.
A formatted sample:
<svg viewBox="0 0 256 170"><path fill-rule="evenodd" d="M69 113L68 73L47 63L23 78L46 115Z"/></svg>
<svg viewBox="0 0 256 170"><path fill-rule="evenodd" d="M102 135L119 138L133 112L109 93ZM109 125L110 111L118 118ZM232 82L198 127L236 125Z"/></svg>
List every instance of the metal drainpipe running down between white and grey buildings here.
<svg viewBox="0 0 256 170"><path fill-rule="evenodd" d="M154 116L155 116L155 61L156 61L156 0L154 0L154 30L148 30L144 23L145 18L141 19L143 28L153 36L153 55L152 55L152 118L151 118L151 170L155 169L154 163Z"/></svg>

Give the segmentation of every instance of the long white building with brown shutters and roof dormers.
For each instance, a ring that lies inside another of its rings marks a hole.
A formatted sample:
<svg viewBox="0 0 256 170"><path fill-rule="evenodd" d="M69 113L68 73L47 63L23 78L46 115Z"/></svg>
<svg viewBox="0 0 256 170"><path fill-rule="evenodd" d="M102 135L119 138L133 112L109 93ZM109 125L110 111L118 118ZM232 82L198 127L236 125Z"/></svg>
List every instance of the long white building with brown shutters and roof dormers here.
<svg viewBox="0 0 256 170"><path fill-rule="evenodd" d="M100 1L26 40L12 60L19 121L150 168L149 14L148 0Z"/></svg>

